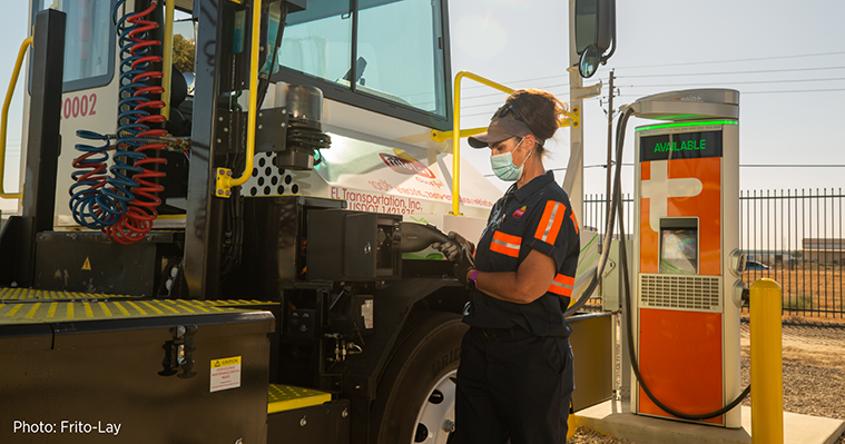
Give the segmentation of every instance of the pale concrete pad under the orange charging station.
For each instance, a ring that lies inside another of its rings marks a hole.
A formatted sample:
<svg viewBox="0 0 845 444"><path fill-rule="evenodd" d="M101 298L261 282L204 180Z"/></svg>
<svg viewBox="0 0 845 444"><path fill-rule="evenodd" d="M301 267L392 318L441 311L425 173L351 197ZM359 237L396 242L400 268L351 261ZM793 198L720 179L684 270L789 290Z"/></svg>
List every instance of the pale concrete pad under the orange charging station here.
<svg viewBox="0 0 845 444"><path fill-rule="evenodd" d="M574 414L574 425L641 444L734 444L751 442L751 408L743 406L743 427L724 428L630 413L629 404L608 401ZM834 444L845 422L784 413L784 443Z"/></svg>

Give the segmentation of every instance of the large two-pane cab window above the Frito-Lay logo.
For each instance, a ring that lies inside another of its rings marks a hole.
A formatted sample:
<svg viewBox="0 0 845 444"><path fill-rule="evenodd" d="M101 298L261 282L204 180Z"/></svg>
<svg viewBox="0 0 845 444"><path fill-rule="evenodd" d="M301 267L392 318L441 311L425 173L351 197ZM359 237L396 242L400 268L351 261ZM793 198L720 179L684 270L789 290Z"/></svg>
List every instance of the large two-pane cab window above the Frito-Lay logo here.
<svg viewBox="0 0 845 444"><path fill-rule="evenodd" d="M351 3L309 1L306 10L288 14L278 63L446 118L441 1L358 0L357 17Z"/></svg>

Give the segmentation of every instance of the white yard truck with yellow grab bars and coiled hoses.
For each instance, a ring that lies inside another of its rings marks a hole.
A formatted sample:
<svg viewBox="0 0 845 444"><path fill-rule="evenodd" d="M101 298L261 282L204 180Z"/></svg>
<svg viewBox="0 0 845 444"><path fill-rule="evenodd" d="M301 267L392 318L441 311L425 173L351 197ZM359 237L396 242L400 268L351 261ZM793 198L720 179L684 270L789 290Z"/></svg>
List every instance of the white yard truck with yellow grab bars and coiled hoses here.
<svg viewBox="0 0 845 444"><path fill-rule="evenodd" d="M468 295L430 244L499 197L452 148L446 1L30 11L0 442L445 443ZM571 319L579 408L610 324Z"/></svg>

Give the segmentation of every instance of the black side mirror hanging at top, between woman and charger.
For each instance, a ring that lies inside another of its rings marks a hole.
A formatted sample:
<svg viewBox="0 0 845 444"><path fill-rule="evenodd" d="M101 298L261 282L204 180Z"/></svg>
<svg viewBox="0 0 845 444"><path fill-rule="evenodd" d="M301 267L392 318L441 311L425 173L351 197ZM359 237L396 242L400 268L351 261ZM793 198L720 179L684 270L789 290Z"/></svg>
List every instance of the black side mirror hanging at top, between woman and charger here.
<svg viewBox="0 0 845 444"><path fill-rule="evenodd" d="M616 0L576 0L574 11L578 69L588 78L616 51Z"/></svg>

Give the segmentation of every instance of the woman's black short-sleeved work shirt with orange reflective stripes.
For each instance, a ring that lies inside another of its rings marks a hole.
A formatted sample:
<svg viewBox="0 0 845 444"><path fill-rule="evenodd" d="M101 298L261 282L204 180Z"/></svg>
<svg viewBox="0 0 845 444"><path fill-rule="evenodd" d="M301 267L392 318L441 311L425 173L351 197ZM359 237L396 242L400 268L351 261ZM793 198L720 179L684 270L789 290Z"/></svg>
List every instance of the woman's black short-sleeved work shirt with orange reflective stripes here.
<svg viewBox="0 0 845 444"><path fill-rule="evenodd" d="M580 241L569 196L552 171L519 189L514 184L495 203L475 250L475 268L517 272L532 249L554 259L557 275L546 294L530 304L515 304L474 290L464 323L481 328L520 326L534 336L569 336L563 312L574 286Z"/></svg>

